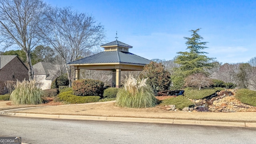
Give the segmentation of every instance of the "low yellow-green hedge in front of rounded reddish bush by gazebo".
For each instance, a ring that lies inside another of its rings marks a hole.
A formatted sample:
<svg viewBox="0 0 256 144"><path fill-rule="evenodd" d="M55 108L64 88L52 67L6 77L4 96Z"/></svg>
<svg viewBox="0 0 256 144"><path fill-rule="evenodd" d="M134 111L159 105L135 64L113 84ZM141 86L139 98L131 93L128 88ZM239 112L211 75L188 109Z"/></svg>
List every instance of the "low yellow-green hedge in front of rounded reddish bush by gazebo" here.
<svg viewBox="0 0 256 144"><path fill-rule="evenodd" d="M100 96L76 96L72 91L62 92L58 95L60 101L68 102L70 104L84 104L90 102L98 102Z"/></svg>

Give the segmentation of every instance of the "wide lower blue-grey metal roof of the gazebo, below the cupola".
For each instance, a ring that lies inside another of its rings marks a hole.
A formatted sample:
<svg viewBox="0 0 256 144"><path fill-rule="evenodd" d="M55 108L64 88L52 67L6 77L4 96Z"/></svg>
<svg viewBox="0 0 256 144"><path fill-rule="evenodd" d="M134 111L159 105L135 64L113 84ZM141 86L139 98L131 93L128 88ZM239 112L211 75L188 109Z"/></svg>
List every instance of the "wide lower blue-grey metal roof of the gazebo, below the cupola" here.
<svg viewBox="0 0 256 144"><path fill-rule="evenodd" d="M129 63L129 64L149 64L151 61L132 54L130 52L123 51L104 51L68 64L89 64L89 63Z"/></svg>

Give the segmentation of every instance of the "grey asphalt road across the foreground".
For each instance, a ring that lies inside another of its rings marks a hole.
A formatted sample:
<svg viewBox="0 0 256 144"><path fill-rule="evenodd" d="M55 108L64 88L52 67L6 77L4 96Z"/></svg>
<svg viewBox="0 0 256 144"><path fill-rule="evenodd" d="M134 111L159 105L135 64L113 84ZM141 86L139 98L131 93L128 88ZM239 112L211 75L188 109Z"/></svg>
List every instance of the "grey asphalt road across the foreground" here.
<svg viewBox="0 0 256 144"><path fill-rule="evenodd" d="M256 144L256 128L0 116L0 136L30 144Z"/></svg>

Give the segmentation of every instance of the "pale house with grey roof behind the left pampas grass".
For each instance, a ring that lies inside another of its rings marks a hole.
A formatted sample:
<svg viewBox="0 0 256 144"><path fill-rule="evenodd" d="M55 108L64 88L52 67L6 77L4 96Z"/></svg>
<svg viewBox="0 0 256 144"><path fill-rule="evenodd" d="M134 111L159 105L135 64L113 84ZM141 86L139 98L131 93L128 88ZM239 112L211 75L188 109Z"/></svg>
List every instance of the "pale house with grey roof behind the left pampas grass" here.
<svg viewBox="0 0 256 144"><path fill-rule="evenodd" d="M50 62L38 62L32 67L34 69L34 79L42 84L41 89L50 89L52 81L58 77L59 66Z"/></svg>

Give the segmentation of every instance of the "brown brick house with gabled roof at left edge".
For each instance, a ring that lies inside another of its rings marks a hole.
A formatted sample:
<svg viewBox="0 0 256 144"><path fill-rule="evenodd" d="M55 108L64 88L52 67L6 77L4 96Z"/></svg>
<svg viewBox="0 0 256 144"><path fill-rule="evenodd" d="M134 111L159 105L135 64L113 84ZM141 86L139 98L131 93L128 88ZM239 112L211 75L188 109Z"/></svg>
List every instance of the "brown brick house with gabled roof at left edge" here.
<svg viewBox="0 0 256 144"><path fill-rule="evenodd" d="M8 93L4 81L28 80L28 68L16 55L0 55L0 94Z"/></svg>

